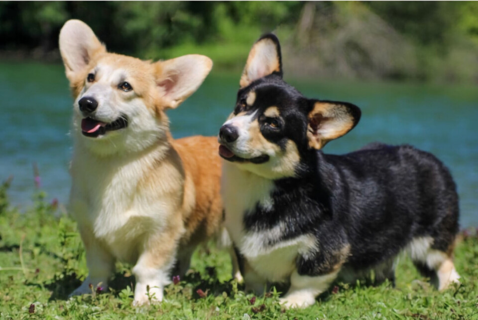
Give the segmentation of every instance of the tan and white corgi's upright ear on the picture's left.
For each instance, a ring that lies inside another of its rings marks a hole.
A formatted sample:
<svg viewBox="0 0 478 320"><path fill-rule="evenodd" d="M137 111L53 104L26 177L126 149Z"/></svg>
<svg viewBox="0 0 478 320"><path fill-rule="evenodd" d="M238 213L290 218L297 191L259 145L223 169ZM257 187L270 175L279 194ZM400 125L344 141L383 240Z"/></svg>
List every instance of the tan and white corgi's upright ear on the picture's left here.
<svg viewBox="0 0 478 320"><path fill-rule="evenodd" d="M60 30L60 53L71 81L99 53L106 52L93 30L83 21L68 20Z"/></svg>

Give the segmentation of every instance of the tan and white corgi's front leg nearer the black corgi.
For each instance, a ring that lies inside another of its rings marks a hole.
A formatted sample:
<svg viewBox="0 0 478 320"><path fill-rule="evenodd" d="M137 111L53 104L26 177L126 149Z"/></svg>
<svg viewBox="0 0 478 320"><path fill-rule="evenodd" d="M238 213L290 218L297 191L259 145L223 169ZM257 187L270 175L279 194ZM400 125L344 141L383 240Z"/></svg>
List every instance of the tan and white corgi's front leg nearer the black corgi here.
<svg viewBox="0 0 478 320"><path fill-rule="evenodd" d="M171 282L178 240L181 233L171 227L152 239L145 239L144 249L132 269L136 278L134 306L163 300L163 289Z"/></svg>

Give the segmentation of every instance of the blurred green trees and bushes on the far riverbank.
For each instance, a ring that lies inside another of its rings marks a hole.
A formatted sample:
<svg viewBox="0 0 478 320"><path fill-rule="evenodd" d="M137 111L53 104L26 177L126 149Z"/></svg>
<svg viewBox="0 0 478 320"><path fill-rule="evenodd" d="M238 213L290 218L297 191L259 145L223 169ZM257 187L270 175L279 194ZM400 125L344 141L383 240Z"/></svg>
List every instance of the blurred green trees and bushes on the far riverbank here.
<svg viewBox="0 0 478 320"><path fill-rule="evenodd" d="M296 76L472 82L477 16L473 1L2 1L0 54L58 59L58 32L77 18L109 50L143 59L201 53L239 70L274 31Z"/></svg>

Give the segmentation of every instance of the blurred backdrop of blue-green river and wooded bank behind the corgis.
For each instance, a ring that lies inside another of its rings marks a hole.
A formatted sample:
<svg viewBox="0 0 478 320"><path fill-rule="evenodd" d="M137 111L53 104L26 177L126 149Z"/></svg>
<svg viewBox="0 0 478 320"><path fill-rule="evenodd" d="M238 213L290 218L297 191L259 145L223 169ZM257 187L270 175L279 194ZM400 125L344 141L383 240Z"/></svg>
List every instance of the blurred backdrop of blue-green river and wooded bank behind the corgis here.
<svg viewBox="0 0 478 320"><path fill-rule="evenodd" d="M110 51L213 59L198 92L169 113L176 138L217 135L252 43L274 32L288 82L362 109L358 127L325 152L373 141L432 152L455 176L462 226L478 226L478 2L1 1L0 180L13 176L19 207L38 188L68 200L73 105L58 33L70 18Z"/></svg>

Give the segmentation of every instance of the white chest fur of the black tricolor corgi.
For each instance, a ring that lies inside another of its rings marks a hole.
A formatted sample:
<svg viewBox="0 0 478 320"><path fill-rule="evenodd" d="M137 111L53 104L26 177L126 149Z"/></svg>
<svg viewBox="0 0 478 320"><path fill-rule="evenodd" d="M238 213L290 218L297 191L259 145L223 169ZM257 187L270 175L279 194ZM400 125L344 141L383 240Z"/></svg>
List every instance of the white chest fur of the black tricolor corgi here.
<svg viewBox="0 0 478 320"><path fill-rule="evenodd" d="M257 274L268 281L284 281L292 273L299 253L315 246L311 235L278 241L284 225L261 231L244 230L243 218L258 204L263 208L274 205L272 180L240 170L234 164L223 163L222 197L226 210L226 228L235 245Z"/></svg>

